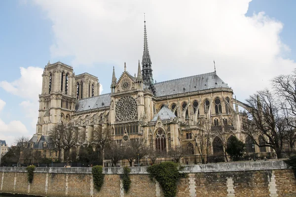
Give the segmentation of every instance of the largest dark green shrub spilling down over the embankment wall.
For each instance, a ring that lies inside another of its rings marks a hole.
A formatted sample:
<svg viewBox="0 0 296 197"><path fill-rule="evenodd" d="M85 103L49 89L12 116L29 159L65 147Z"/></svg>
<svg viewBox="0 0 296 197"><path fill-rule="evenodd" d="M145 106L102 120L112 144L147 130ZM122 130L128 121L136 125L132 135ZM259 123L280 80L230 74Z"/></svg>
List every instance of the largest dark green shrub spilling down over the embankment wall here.
<svg viewBox="0 0 296 197"><path fill-rule="evenodd" d="M148 167L150 178L155 178L161 186L165 197L175 197L177 183L181 177L178 164L174 162L163 162Z"/></svg>

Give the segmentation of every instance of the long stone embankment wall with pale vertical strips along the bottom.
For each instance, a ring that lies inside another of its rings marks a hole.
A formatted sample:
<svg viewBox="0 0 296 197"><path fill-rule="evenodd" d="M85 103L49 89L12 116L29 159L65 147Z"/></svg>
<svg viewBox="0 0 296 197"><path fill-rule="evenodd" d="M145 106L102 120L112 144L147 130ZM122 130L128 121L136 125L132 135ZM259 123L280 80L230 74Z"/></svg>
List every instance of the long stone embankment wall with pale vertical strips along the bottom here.
<svg viewBox="0 0 296 197"><path fill-rule="evenodd" d="M283 161L185 165L177 197L296 197L296 178ZM37 167L32 184L24 167L0 167L0 194L47 197L163 197L147 167L131 167L126 194L121 167L105 167L101 191L93 185L90 167Z"/></svg>

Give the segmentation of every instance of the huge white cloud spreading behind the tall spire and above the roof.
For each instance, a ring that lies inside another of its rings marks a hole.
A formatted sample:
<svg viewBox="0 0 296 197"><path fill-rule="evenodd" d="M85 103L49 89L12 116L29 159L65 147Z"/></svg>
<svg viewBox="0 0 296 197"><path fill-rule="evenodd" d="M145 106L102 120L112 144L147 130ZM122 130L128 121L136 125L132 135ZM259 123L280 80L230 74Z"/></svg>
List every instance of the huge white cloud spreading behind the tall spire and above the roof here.
<svg viewBox="0 0 296 197"><path fill-rule="evenodd" d="M55 58L74 56L74 66L121 66L126 61L130 73L136 72L146 12L154 79L211 72L215 59L217 74L238 99L245 99L268 86L272 77L296 67L293 60L283 58L290 51L279 36L283 24L264 12L246 17L250 1L35 2L53 23L51 55Z"/></svg>

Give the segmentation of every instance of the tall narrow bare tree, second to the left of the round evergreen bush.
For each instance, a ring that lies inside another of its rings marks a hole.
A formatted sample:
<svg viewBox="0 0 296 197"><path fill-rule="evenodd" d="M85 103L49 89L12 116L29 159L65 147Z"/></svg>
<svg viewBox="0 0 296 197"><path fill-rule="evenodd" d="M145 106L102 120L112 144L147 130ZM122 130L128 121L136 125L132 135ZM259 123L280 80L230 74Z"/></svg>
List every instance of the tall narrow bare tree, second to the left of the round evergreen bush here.
<svg viewBox="0 0 296 197"><path fill-rule="evenodd" d="M207 119L201 119L199 125L200 129L192 131L192 134L201 162L204 164L205 159L208 159L209 149L211 148L211 123Z"/></svg>

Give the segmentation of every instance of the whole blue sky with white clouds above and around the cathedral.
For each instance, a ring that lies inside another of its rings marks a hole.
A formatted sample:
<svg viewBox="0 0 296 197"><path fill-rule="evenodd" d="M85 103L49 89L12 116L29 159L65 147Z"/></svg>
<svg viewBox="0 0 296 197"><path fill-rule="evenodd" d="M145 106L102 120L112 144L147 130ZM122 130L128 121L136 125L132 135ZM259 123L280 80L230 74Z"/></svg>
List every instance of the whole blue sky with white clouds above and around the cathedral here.
<svg viewBox="0 0 296 197"><path fill-rule="evenodd" d="M110 92L136 73L144 13L157 82L214 71L244 101L296 67L294 0L2 0L0 139L36 133L44 66L62 62Z"/></svg>

